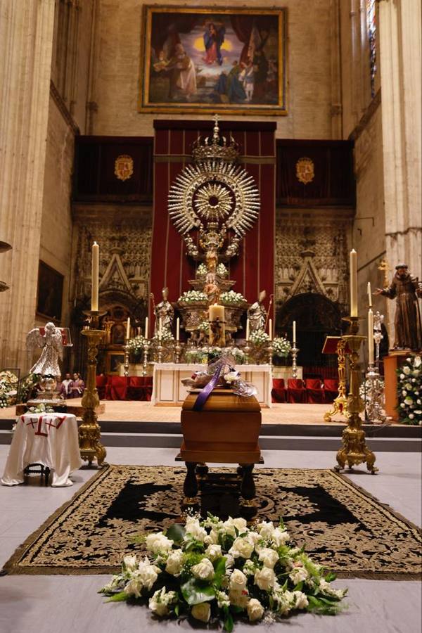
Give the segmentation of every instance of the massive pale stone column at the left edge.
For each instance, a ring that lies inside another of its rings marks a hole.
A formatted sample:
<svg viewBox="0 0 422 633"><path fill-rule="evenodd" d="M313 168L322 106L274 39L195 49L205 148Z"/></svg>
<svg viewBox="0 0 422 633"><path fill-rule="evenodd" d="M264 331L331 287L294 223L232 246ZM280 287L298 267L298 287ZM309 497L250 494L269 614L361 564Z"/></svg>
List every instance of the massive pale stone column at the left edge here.
<svg viewBox="0 0 422 633"><path fill-rule="evenodd" d="M0 368L26 371L34 325L49 113L54 0L5 0L0 9L0 260L11 287L0 300Z"/></svg>

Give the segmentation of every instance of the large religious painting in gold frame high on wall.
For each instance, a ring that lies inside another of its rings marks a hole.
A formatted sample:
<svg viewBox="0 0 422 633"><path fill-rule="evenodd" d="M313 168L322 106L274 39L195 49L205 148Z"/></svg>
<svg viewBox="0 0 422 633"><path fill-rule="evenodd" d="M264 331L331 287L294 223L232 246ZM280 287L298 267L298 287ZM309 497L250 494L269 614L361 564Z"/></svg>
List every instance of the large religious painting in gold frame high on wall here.
<svg viewBox="0 0 422 633"><path fill-rule="evenodd" d="M286 8L143 6L139 112L286 115Z"/></svg>

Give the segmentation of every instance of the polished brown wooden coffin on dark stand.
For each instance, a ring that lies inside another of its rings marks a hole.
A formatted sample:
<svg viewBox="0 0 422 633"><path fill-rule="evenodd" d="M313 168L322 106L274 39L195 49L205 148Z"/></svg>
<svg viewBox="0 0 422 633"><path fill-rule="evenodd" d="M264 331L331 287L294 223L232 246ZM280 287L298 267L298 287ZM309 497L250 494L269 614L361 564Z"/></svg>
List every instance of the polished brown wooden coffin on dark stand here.
<svg viewBox="0 0 422 633"><path fill-rule="evenodd" d="M197 397L198 392L188 394L181 408L180 459L196 463L259 462L261 407L257 399L215 389L203 409L193 411Z"/></svg>

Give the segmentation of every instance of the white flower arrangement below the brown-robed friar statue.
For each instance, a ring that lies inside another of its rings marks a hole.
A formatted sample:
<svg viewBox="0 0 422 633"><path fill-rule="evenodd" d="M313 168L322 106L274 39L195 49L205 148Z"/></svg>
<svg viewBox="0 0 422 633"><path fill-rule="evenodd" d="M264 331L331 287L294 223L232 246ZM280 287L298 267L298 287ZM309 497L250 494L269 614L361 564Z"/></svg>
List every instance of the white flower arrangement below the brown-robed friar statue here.
<svg viewBox="0 0 422 633"><path fill-rule="evenodd" d="M399 418L404 424L422 426L422 358L409 356L397 369Z"/></svg>

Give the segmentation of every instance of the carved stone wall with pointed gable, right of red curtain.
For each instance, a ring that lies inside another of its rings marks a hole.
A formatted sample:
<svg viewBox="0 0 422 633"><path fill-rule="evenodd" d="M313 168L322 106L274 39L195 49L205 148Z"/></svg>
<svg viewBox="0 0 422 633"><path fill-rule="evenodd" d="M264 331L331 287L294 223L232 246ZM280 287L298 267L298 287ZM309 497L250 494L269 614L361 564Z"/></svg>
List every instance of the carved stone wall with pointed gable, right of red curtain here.
<svg viewBox="0 0 422 633"><path fill-rule="evenodd" d="M347 222L295 219L276 226L276 306L314 293L347 307Z"/></svg>

